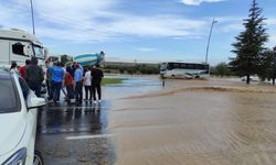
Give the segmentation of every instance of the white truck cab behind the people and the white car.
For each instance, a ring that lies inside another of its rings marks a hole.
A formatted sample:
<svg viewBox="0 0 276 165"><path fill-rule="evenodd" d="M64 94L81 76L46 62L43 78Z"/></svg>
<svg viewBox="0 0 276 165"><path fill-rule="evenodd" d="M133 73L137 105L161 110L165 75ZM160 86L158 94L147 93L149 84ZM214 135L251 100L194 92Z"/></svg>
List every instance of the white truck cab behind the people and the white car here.
<svg viewBox="0 0 276 165"><path fill-rule="evenodd" d="M8 67L12 62L23 66L32 56L39 59L39 65L45 65L43 45L34 35L21 30L0 30L0 67Z"/></svg>

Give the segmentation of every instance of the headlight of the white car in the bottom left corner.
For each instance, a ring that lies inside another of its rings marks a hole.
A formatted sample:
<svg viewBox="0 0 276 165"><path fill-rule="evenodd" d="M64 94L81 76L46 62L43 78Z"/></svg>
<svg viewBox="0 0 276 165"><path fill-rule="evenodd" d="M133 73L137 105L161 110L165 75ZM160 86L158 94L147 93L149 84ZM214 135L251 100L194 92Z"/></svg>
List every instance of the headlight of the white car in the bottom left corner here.
<svg viewBox="0 0 276 165"><path fill-rule="evenodd" d="M20 148L13 155L11 155L2 165L24 165L26 157L26 148Z"/></svg>

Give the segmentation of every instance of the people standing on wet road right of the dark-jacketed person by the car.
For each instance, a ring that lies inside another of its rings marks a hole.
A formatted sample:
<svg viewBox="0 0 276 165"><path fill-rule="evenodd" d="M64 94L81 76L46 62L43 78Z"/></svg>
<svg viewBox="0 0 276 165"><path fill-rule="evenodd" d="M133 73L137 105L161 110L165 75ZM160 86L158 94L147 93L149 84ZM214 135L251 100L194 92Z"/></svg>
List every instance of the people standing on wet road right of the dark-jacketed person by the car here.
<svg viewBox="0 0 276 165"><path fill-rule="evenodd" d="M64 68L61 62L54 63L47 68L46 81L49 87L49 100L57 102L60 100L63 86L66 87L66 100L75 99L76 103L83 101L83 87L85 88L85 100L96 103L96 92L98 94L98 102L102 101L100 81L104 74L99 67L88 66L86 69L77 64L66 65ZM89 95L89 99L88 99Z"/></svg>

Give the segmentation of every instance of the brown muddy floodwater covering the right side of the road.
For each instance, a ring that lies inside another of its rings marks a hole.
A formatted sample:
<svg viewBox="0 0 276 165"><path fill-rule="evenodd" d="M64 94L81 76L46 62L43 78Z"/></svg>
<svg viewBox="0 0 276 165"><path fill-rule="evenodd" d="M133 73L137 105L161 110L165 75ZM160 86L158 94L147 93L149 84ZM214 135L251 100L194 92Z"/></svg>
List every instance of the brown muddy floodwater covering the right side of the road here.
<svg viewBox="0 0 276 165"><path fill-rule="evenodd" d="M117 165L275 165L276 86L166 80L115 99L108 130Z"/></svg>

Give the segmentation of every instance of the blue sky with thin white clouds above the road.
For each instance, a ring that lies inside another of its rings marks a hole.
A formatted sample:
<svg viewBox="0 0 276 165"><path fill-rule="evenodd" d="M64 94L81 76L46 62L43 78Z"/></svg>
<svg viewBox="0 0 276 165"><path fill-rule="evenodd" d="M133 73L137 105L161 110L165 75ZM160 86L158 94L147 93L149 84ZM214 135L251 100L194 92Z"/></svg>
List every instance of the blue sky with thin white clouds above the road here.
<svg viewBox="0 0 276 165"><path fill-rule="evenodd" d="M33 0L36 36L51 54L104 51L108 58L227 62L252 0ZM276 0L258 0L276 45ZM30 0L0 0L0 28L32 33Z"/></svg>

